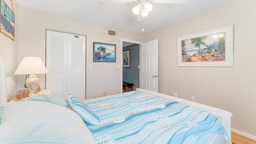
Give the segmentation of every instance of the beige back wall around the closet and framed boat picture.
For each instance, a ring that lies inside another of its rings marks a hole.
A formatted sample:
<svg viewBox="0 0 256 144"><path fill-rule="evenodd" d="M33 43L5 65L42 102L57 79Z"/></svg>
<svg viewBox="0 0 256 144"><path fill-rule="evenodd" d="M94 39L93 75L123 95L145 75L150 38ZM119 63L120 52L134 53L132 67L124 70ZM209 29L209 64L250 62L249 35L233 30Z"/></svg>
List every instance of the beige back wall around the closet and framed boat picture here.
<svg viewBox="0 0 256 144"><path fill-rule="evenodd" d="M93 22L19 6L19 53L18 61L24 56L38 56L45 64L46 28L86 34L86 98L106 94L118 94L121 90L120 56L121 38L142 42L142 34L129 32ZM107 36L108 29L116 30L117 36ZM93 42L116 44L116 62L93 62ZM89 69L92 64L92 69ZM40 88L45 88L45 75L40 78ZM25 76L18 77L18 86L23 87Z"/></svg>

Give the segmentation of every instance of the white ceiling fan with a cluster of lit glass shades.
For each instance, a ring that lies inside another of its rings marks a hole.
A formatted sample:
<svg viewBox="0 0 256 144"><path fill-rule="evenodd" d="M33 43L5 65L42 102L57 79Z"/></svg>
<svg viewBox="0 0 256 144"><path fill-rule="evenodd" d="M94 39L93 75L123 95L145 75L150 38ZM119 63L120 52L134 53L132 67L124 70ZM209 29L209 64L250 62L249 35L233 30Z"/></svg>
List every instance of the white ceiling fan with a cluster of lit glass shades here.
<svg viewBox="0 0 256 144"><path fill-rule="evenodd" d="M132 12L137 15L137 21L144 20L144 16L148 16L149 12L151 12L153 6L148 2L154 3L166 3L166 4L183 4L188 0L98 0L98 4L106 5L106 4L117 4L124 2L136 2L134 8L132 8Z"/></svg>

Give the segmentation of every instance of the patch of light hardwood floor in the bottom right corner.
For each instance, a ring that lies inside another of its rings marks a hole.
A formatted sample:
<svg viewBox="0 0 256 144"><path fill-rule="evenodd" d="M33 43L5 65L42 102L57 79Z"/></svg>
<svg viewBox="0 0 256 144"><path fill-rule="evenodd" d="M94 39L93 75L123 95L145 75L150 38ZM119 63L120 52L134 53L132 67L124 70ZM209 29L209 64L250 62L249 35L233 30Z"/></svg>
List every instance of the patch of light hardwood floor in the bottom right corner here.
<svg viewBox="0 0 256 144"><path fill-rule="evenodd" d="M256 140L252 140L234 132L231 132L231 141L233 144L256 144Z"/></svg>

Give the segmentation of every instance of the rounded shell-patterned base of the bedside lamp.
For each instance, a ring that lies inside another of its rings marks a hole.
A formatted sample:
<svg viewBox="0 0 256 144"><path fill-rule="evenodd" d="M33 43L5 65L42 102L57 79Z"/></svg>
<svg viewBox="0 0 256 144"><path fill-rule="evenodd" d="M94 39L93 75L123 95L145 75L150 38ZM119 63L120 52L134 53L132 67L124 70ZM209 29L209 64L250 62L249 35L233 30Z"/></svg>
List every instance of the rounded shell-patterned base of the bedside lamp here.
<svg viewBox="0 0 256 144"><path fill-rule="evenodd" d="M35 74L30 74L29 78L26 79L26 85L27 85L28 89L33 92L32 96L37 94L38 84L39 84L39 78L36 77Z"/></svg>

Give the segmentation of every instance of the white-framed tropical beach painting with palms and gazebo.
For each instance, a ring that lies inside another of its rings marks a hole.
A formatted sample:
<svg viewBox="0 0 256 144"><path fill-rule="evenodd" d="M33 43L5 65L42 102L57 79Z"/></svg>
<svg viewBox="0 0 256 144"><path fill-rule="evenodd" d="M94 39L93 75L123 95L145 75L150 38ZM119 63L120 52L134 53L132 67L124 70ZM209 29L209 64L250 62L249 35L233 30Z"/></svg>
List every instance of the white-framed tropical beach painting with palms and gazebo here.
<svg viewBox="0 0 256 144"><path fill-rule="evenodd" d="M178 66L233 67L233 25L177 38Z"/></svg>

